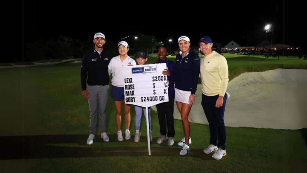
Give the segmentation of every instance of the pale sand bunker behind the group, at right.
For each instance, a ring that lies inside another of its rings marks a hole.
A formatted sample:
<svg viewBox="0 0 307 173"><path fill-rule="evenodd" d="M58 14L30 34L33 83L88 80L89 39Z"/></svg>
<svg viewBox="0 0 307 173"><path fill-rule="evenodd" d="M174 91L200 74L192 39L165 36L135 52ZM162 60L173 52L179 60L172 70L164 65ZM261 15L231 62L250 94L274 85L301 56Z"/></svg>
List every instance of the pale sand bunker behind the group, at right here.
<svg viewBox="0 0 307 173"><path fill-rule="evenodd" d="M244 73L228 83L225 125L274 129L307 127L307 70L276 69ZM189 115L191 122L208 124L201 103L201 85ZM155 109L155 107L153 107ZM176 103L174 118L181 119Z"/></svg>

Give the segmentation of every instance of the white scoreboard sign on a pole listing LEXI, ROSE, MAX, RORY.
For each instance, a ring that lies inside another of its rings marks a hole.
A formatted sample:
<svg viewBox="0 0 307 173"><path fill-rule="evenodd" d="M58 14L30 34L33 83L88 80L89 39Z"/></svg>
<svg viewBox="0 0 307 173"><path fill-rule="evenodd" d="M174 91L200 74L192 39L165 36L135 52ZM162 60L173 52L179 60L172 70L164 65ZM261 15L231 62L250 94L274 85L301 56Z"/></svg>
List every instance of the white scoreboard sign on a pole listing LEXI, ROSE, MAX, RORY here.
<svg viewBox="0 0 307 173"><path fill-rule="evenodd" d="M168 81L163 75L166 63L123 67L125 103L146 107L146 125L148 155L150 153L150 137L148 107L168 102Z"/></svg>

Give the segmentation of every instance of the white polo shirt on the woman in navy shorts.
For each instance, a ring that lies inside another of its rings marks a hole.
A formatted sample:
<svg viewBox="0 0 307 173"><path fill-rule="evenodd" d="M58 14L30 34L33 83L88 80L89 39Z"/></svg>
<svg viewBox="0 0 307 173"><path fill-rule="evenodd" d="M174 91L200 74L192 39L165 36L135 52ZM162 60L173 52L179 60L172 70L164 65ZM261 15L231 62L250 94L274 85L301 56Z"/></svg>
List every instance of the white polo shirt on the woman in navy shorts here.
<svg viewBox="0 0 307 173"><path fill-rule="evenodd" d="M124 87L124 77L122 75L122 67L133 65L136 66L136 62L134 59L130 58L129 56L126 57L126 59L122 62L119 58L120 55L115 56L111 59L108 71L109 76L112 74L112 85L118 86L118 87Z"/></svg>

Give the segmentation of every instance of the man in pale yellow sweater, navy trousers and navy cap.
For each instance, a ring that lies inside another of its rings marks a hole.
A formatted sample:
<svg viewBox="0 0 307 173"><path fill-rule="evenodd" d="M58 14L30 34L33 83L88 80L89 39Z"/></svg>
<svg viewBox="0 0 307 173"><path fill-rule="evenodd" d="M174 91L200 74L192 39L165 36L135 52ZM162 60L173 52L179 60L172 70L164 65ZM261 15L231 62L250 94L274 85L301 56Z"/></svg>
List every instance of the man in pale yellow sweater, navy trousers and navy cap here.
<svg viewBox="0 0 307 173"><path fill-rule="evenodd" d="M216 151L213 159L221 159L226 155L226 127L224 111L226 105L226 89L228 84L228 65L226 58L212 51L212 40L208 36L198 42L204 58L200 60L200 76L202 85L201 105L207 117L210 129L210 145L203 150L205 154ZM217 143L217 139L219 143Z"/></svg>

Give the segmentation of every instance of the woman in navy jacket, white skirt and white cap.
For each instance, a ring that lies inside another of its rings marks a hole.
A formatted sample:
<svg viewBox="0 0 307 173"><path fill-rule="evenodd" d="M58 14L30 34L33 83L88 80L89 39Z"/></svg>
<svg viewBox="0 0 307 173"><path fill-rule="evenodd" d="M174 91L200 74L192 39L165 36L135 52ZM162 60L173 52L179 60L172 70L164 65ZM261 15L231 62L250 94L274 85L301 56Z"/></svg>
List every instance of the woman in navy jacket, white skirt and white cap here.
<svg viewBox="0 0 307 173"><path fill-rule="evenodd" d="M190 122L188 115L195 100L195 92L200 73L200 58L190 49L190 39L187 36L178 38L178 46L181 50L176 56L176 84L175 101L181 114L185 137L178 142L183 147L180 155L186 155L190 151Z"/></svg>

